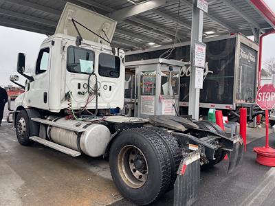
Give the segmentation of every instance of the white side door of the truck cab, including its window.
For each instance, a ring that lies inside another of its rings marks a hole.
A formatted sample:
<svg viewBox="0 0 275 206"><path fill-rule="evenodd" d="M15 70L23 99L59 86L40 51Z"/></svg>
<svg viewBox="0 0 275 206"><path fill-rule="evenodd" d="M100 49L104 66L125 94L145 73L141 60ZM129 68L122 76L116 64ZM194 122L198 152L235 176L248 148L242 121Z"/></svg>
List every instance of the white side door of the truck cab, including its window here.
<svg viewBox="0 0 275 206"><path fill-rule="evenodd" d="M51 43L43 44L36 60L34 81L30 82L30 89L25 93L28 106L49 109L48 92L51 54Z"/></svg>

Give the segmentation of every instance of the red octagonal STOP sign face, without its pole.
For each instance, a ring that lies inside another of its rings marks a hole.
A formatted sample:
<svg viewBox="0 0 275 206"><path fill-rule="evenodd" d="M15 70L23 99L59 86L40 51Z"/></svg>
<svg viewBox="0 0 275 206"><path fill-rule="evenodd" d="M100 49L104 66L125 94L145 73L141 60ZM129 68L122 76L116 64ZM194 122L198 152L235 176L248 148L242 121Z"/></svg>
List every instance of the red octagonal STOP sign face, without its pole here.
<svg viewBox="0 0 275 206"><path fill-rule="evenodd" d="M256 103L261 109L272 109L275 105L275 87L273 84L265 84L258 90Z"/></svg>

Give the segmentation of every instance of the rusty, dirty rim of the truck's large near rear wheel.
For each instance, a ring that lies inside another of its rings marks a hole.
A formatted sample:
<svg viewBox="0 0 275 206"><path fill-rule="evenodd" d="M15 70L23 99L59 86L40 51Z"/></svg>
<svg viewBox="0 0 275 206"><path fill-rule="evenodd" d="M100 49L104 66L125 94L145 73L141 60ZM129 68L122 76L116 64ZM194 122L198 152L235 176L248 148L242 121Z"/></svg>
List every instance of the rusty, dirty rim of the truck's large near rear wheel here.
<svg viewBox="0 0 275 206"><path fill-rule="evenodd" d="M140 188L147 180L148 164L142 151L135 146L124 146L118 154L118 170L124 183Z"/></svg>

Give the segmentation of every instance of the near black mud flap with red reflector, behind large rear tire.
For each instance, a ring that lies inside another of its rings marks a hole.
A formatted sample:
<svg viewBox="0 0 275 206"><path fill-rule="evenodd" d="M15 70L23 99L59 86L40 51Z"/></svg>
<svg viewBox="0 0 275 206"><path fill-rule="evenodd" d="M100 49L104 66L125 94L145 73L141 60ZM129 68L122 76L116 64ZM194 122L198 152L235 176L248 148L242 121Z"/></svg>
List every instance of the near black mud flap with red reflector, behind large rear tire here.
<svg viewBox="0 0 275 206"><path fill-rule="evenodd" d="M174 185L174 205L189 206L197 201L201 174L199 150L181 159Z"/></svg>

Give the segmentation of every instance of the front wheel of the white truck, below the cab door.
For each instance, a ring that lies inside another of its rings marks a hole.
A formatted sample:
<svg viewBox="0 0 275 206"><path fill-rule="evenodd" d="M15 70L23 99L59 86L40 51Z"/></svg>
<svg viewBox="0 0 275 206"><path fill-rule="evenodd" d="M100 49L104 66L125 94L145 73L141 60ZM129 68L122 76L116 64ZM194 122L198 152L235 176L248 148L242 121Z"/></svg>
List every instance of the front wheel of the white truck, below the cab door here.
<svg viewBox="0 0 275 206"><path fill-rule="evenodd" d="M15 130L17 133L17 139L21 145L30 146L33 143L33 141L29 139L30 119L25 110L19 111L15 123Z"/></svg>

